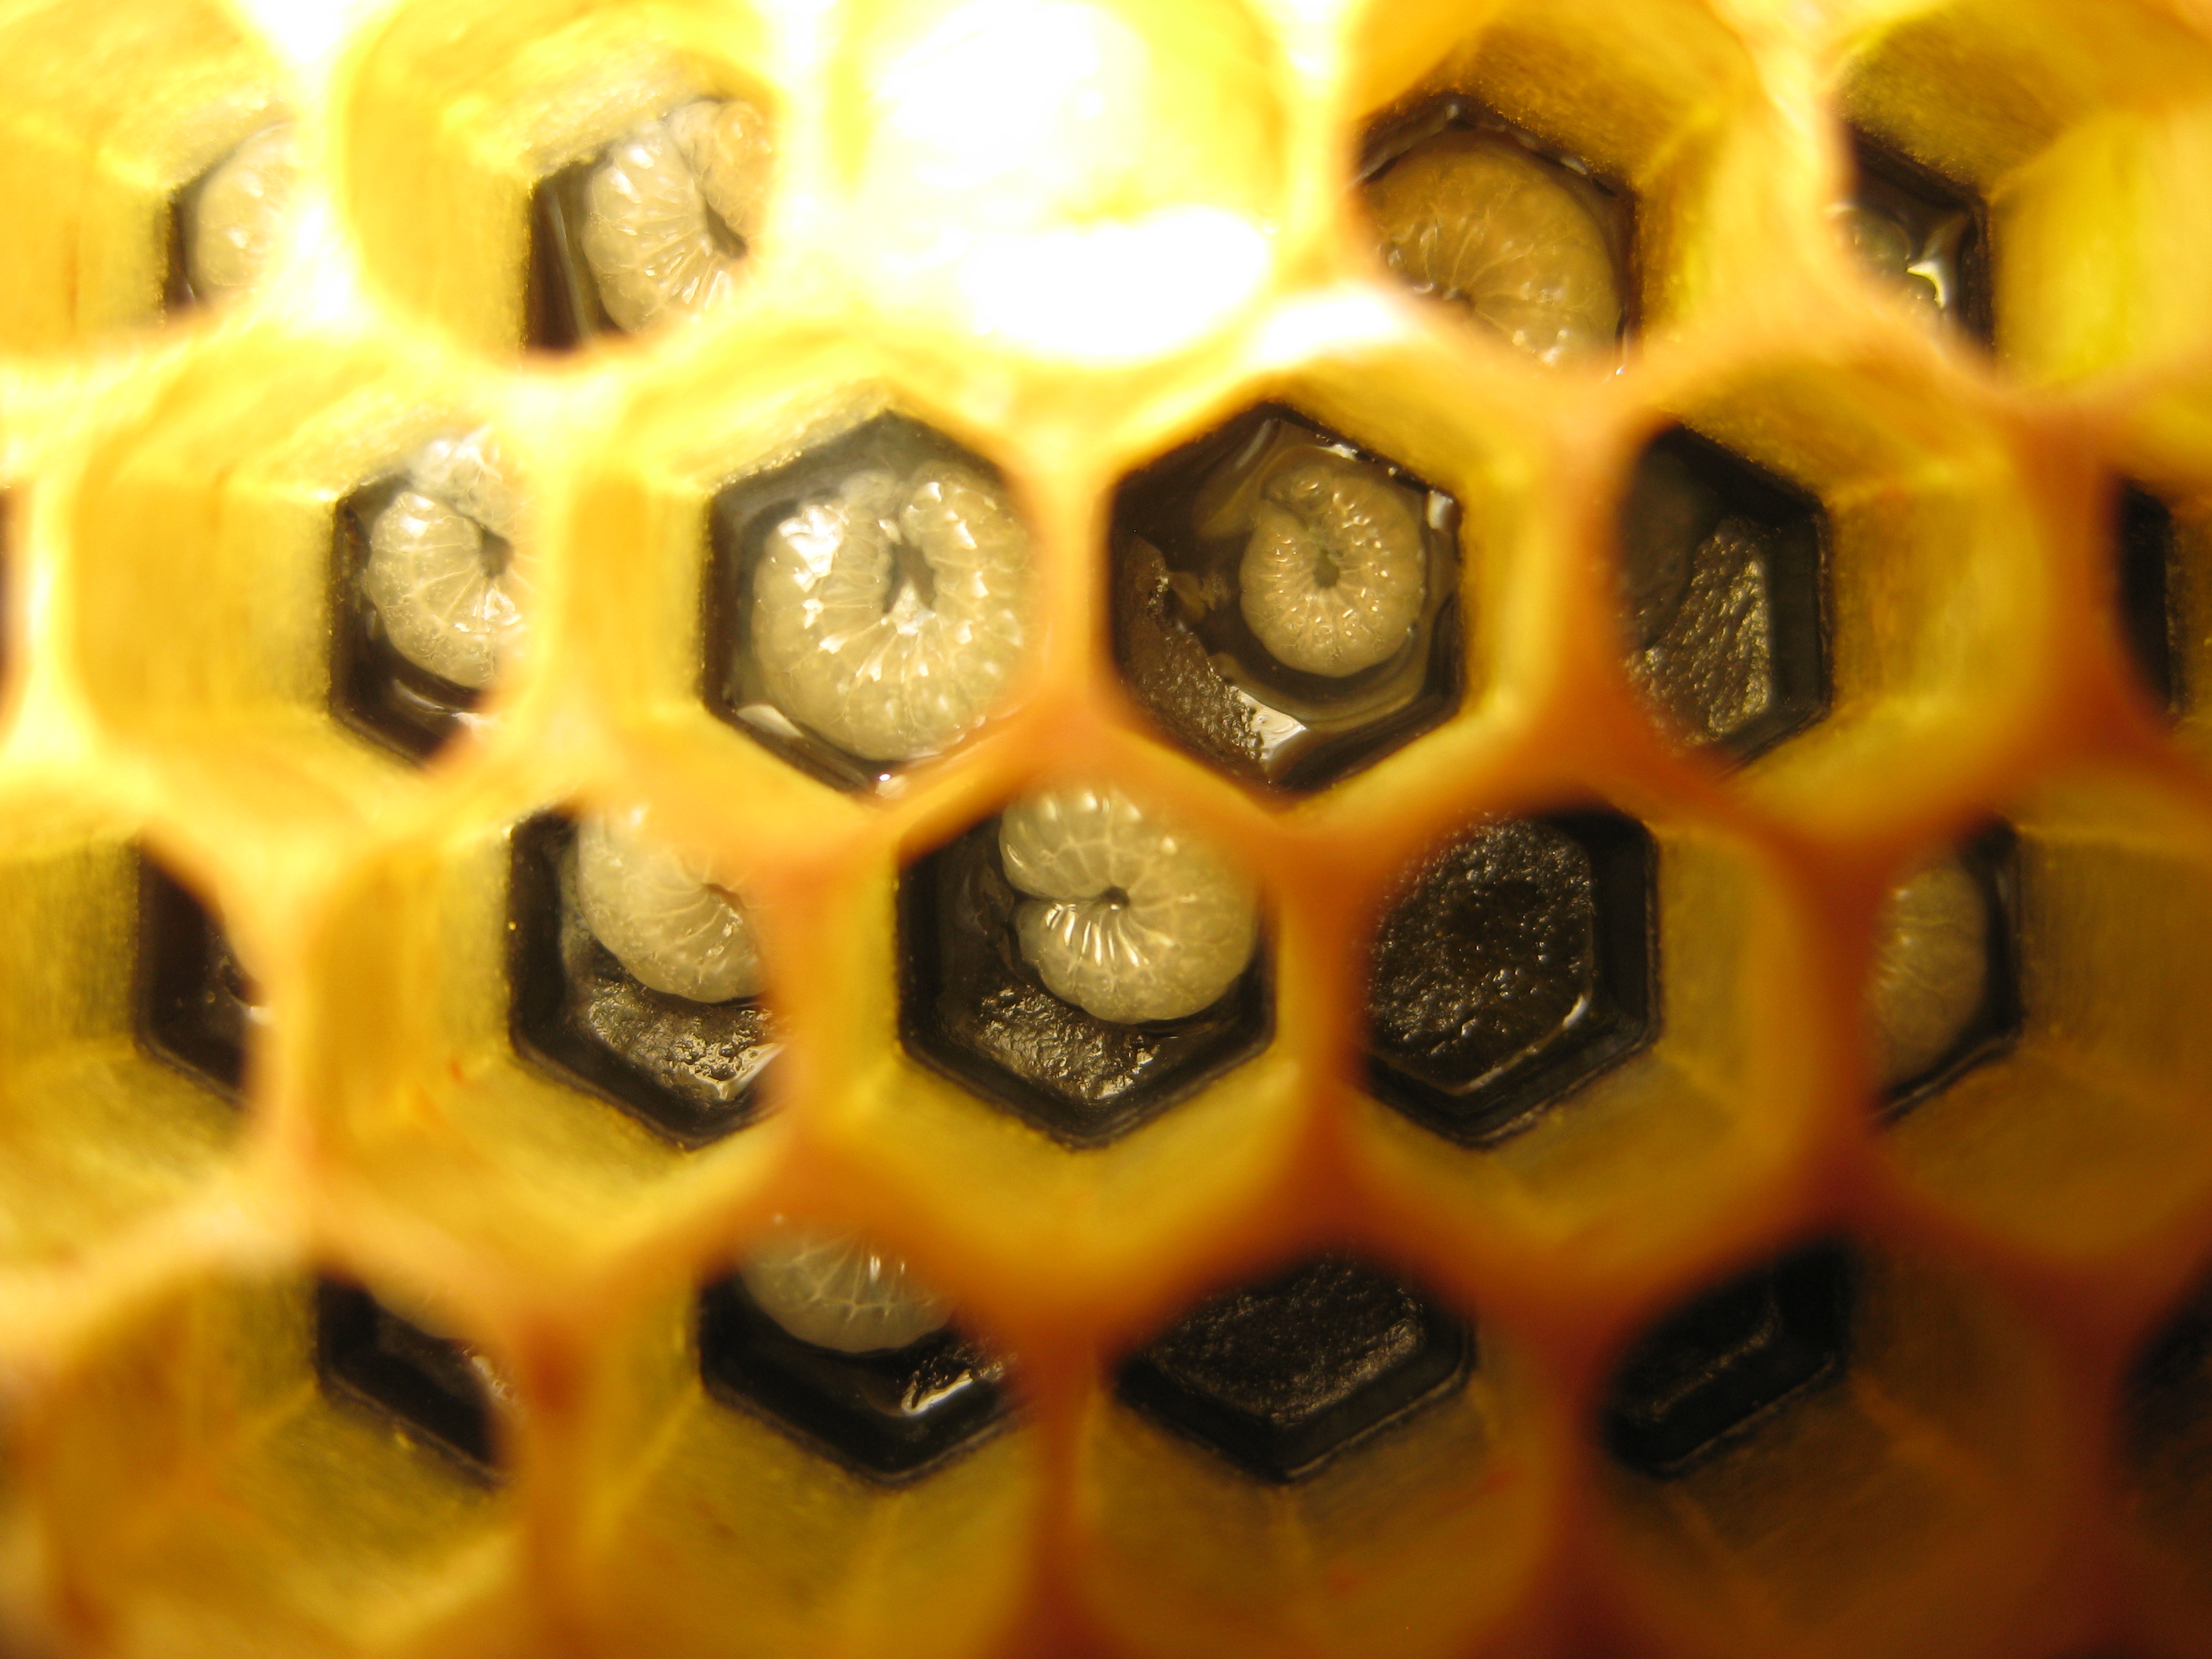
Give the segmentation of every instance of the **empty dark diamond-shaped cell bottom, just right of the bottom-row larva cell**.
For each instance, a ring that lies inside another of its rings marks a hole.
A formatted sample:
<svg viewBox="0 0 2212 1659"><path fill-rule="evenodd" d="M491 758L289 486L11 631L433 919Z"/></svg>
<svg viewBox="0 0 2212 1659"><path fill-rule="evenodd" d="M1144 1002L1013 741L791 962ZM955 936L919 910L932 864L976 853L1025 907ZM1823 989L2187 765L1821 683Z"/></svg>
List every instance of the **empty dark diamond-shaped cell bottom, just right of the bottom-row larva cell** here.
<svg viewBox="0 0 2212 1659"><path fill-rule="evenodd" d="M1321 1256L1201 1303L1121 1365L1121 1398L1261 1480L1298 1480L1442 1398L1464 1323L1391 1276Z"/></svg>

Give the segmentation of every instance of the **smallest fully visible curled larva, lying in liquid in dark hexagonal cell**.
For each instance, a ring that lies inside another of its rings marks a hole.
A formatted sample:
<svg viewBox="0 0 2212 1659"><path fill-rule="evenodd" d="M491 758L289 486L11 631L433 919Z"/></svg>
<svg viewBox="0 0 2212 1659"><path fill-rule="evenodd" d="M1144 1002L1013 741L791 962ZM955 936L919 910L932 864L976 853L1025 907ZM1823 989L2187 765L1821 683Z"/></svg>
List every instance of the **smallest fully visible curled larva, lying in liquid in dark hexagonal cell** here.
<svg viewBox="0 0 2212 1659"><path fill-rule="evenodd" d="M1283 666L1374 668L1413 635L1429 591L1420 513L1374 467L1307 451L1261 491L1237 586L1245 624Z"/></svg>

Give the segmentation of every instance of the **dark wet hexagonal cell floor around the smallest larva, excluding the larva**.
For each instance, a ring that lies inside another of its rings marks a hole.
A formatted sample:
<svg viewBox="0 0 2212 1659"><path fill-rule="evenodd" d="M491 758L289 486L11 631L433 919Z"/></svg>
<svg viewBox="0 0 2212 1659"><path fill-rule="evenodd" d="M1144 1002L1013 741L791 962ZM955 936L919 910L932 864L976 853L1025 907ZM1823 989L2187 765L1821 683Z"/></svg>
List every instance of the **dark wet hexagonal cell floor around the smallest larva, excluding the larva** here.
<svg viewBox="0 0 2212 1659"><path fill-rule="evenodd" d="M1327 458L1336 458L1329 462ZM1349 462L1402 498L1425 597L1385 661L1332 677L1281 664L1245 622L1239 564L1254 502L1296 467ZM1121 480L1113 509L1115 659L1170 739L1230 776L1318 790L1460 703L1460 507L1283 405L1259 405Z"/></svg>

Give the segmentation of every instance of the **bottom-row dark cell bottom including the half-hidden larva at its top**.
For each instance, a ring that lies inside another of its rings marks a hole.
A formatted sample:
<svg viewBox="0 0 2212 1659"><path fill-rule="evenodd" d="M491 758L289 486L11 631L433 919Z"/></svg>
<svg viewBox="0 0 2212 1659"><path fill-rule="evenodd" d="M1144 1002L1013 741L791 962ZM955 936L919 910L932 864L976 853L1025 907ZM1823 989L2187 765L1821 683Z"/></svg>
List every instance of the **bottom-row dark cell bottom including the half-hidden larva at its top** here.
<svg viewBox="0 0 2212 1659"><path fill-rule="evenodd" d="M779 1241L699 1296L708 1391L874 1480L911 1480L1006 1416L1004 1360L905 1265L830 1239Z"/></svg>

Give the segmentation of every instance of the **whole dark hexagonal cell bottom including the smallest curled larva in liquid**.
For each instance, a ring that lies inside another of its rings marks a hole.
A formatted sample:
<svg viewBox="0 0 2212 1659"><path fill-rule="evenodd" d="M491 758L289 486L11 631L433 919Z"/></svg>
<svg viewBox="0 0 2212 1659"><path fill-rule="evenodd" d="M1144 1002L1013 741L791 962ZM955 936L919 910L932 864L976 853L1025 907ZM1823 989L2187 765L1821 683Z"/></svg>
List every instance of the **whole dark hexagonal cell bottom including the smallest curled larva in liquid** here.
<svg viewBox="0 0 2212 1659"><path fill-rule="evenodd" d="M1121 677L1186 750L1318 790L1460 703L1460 507L1263 403L1121 480Z"/></svg>

